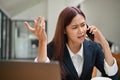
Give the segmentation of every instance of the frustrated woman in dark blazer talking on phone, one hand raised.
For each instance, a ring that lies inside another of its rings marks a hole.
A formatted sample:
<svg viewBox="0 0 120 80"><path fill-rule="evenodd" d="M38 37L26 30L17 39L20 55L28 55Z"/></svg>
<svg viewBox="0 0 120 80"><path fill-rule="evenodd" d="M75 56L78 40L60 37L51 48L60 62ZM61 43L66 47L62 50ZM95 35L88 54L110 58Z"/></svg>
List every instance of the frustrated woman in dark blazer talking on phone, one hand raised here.
<svg viewBox="0 0 120 80"><path fill-rule="evenodd" d="M90 80L94 66L104 76L117 80L118 67L108 42L95 26L87 28L80 9L66 7L60 13L54 38L48 45L43 17L34 21L34 28L27 22L25 25L39 39L36 61L59 61L63 80ZM88 29L94 34L94 41L86 39Z"/></svg>

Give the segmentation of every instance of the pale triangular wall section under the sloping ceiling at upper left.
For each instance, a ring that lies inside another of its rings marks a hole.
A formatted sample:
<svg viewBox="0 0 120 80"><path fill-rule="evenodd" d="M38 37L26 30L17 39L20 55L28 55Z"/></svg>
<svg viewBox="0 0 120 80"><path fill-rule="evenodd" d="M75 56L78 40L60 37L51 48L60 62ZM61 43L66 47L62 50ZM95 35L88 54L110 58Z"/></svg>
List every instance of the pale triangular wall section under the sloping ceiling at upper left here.
<svg viewBox="0 0 120 80"><path fill-rule="evenodd" d="M41 0L37 5L15 15L13 20L34 20L38 16L47 18L47 0Z"/></svg>

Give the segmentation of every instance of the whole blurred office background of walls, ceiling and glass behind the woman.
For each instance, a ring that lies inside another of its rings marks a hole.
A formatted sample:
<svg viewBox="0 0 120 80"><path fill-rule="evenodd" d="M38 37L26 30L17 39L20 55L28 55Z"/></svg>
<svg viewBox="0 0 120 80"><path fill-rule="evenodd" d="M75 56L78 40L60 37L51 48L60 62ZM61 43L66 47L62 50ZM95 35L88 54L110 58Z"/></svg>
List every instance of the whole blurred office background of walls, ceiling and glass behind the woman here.
<svg viewBox="0 0 120 80"><path fill-rule="evenodd" d="M0 0L0 59L31 59L37 56L38 40L24 25L44 16L48 42L57 18L66 6L83 10L89 25L97 26L113 52L120 51L120 0Z"/></svg>

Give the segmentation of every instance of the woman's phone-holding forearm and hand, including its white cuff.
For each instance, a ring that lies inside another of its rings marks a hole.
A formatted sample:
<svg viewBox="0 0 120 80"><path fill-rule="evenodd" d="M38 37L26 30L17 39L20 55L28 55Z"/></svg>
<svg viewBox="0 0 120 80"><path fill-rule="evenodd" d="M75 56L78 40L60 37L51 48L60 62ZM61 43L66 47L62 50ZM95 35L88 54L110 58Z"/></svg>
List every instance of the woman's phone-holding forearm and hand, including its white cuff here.
<svg viewBox="0 0 120 80"><path fill-rule="evenodd" d="M104 54L104 69L108 76L113 76L118 71L118 66L115 58L112 56L110 47L102 33L94 26L90 27L91 32L95 35L94 41L99 43Z"/></svg>

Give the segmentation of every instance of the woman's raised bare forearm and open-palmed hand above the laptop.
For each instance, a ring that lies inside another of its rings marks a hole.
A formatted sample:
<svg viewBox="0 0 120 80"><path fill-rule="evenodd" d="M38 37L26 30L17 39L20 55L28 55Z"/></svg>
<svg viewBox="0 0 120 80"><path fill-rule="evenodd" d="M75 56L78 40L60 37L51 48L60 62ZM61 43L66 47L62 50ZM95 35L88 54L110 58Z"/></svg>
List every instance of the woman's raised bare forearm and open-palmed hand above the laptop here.
<svg viewBox="0 0 120 80"><path fill-rule="evenodd" d="M32 28L28 22L25 22L26 27L39 39L38 46L38 62L46 62L47 60L47 36L45 32L45 21L43 17L38 17L34 20L34 28Z"/></svg>

